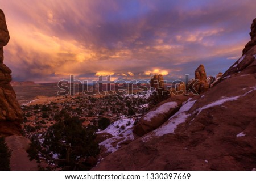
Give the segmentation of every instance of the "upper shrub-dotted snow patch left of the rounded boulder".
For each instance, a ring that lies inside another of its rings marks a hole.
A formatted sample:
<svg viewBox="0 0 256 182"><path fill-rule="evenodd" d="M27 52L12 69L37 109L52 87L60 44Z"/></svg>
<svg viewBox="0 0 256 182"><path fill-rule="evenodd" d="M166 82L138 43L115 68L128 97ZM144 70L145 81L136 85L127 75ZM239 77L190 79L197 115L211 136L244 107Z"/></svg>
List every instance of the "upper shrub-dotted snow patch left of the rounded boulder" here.
<svg viewBox="0 0 256 182"><path fill-rule="evenodd" d="M133 120L133 118L121 118L120 120L110 124L108 128L97 133L109 133L113 136L117 136L118 134L124 132L124 130L133 127L134 122L135 121Z"/></svg>

